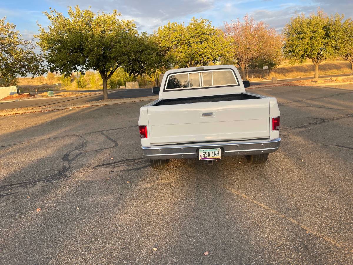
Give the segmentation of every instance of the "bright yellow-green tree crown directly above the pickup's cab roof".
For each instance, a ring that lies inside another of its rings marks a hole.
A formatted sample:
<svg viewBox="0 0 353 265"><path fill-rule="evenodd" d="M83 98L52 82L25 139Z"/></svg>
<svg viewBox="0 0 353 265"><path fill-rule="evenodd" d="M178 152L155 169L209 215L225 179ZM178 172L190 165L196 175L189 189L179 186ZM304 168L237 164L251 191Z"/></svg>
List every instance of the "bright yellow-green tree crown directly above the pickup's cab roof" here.
<svg viewBox="0 0 353 265"><path fill-rule="evenodd" d="M193 67L208 65L223 54L222 31L207 19L193 17L185 27L176 22L159 27L155 35L172 66Z"/></svg>

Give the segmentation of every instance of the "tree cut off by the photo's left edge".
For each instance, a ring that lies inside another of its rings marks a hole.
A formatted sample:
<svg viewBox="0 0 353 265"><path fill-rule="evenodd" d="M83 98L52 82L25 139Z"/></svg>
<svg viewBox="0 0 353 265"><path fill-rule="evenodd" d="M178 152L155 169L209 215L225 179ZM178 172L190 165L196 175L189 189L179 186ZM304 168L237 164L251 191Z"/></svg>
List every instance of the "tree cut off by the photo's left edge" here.
<svg viewBox="0 0 353 265"><path fill-rule="evenodd" d="M18 76L44 73L43 58L34 52L31 41L21 39L16 26L0 19L0 80L2 85L16 85Z"/></svg>

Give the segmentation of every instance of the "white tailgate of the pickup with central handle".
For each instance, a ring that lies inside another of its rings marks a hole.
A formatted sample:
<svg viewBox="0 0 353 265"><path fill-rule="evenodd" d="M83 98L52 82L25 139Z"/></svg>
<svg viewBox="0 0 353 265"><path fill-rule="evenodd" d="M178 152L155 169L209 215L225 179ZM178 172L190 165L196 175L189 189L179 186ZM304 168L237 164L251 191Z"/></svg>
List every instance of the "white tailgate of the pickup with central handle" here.
<svg viewBox="0 0 353 265"><path fill-rule="evenodd" d="M152 145L267 138L269 99L148 106Z"/></svg>

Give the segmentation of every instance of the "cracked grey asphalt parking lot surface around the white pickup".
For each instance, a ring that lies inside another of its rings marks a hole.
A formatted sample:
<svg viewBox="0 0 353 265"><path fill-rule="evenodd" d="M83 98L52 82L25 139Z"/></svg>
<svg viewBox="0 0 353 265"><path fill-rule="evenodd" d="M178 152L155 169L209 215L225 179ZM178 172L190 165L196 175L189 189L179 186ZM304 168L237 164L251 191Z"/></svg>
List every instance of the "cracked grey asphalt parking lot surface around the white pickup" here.
<svg viewBox="0 0 353 265"><path fill-rule="evenodd" d="M152 170L137 132L147 102L0 117L1 263L352 264L349 88L249 90L281 110L264 165Z"/></svg>

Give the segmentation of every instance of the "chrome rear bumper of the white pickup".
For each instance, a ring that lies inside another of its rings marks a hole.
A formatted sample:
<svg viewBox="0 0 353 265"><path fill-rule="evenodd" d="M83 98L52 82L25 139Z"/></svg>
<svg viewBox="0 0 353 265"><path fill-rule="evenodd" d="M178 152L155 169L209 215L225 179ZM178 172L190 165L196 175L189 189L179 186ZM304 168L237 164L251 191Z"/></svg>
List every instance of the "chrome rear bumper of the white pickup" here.
<svg viewBox="0 0 353 265"><path fill-rule="evenodd" d="M277 151L281 138L270 140L228 141L214 143L189 143L141 147L147 159L185 159L197 158L198 149L221 148L222 156L266 154Z"/></svg>

